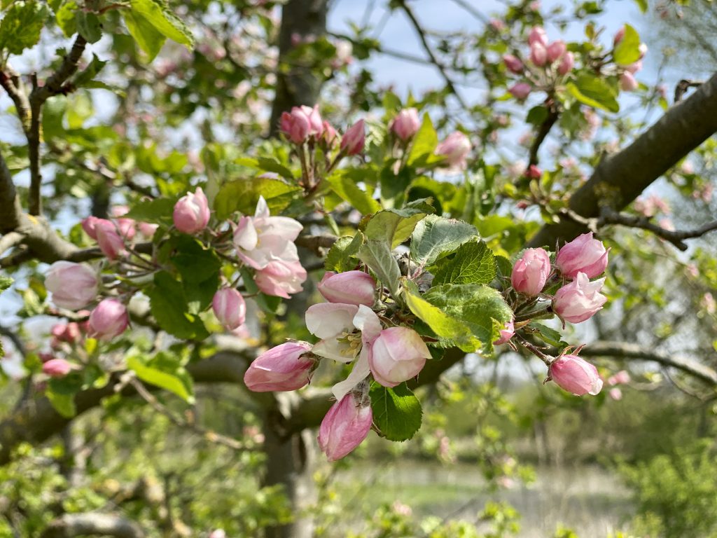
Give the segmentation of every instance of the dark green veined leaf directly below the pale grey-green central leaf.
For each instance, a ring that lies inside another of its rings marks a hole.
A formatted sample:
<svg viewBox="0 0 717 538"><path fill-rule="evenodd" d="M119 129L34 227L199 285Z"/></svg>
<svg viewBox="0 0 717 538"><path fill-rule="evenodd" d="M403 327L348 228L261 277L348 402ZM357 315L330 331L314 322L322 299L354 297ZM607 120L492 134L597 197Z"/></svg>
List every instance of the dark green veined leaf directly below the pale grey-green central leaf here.
<svg viewBox="0 0 717 538"><path fill-rule="evenodd" d="M468 242L452 258L443 258L433 271L433 285L490 284L495 278L495 259L485 242Z"/></svg>

